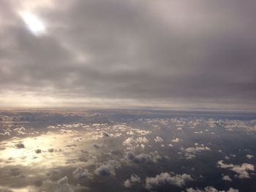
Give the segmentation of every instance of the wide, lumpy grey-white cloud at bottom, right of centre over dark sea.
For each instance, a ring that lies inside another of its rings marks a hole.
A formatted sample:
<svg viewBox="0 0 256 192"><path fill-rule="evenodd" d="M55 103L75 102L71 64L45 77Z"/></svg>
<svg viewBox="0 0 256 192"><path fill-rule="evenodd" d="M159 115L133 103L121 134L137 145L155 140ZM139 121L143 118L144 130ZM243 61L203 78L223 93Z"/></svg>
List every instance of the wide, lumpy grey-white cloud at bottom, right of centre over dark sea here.
<svg viewBox="0 0 256 192"><path fill-rule="evenodd" d="M151 190L153 188L158 188L161 185L176 185L182 187L187 181L192 180L189 174L169 174L167 172L162 172L157 174L156 177L146 177L146 189Z"/></svg>

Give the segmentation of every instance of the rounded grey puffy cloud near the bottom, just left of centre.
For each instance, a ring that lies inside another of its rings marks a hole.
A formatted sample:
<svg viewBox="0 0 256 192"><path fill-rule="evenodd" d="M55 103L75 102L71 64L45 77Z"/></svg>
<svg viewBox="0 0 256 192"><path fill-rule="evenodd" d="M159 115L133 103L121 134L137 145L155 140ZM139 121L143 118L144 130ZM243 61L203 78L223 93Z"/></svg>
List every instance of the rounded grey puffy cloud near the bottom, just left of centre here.
<svg viewBox="0 0 256 192"><path fill-rule="evenodd" d="M95 174L107 176L107 175L116 175L116 169L120 168L121 165L118 161L109 160L104 164L101 164L97 169L95 169Z"/></svg>

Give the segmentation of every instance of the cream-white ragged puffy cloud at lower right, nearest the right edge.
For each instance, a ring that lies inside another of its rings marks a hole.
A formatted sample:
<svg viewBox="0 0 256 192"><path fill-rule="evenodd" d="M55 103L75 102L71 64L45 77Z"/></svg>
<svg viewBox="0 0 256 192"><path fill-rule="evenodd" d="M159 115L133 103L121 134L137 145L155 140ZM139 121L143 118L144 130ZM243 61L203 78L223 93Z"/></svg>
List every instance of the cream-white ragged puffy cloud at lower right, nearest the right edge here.
<svg viewBox="0 0 256 192"><path fill-rule="evenodd" d="M249 178L249 171L255 171L255 166L252 164L241 164L241 165L234 165L234 164L224 164L223 161L218 161L217 166L223 169L230 169L233 172L238 174L238 177Z"/></svg>

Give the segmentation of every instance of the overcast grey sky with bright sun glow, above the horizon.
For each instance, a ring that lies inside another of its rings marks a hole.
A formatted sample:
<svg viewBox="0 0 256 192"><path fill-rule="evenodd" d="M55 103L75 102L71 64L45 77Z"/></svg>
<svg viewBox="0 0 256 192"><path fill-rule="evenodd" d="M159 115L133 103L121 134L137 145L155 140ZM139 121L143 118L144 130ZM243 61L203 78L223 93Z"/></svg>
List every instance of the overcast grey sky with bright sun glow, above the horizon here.
<svg viewBox="0 0 256 192"><path fill-rule="evenodd" d="M0 107L256 110L253 0L0 4Z"/></svg>

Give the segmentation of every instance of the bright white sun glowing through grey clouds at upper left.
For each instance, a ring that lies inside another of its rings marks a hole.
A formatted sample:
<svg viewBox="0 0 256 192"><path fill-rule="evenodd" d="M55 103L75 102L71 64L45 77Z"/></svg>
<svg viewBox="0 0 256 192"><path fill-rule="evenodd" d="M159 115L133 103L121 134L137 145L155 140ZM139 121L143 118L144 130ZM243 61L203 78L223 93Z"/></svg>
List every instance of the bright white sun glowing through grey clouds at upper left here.
<svg viewBox="0 0 256 192"><path fill-rule="evenodd" d="M23 12L21 17L23 18L26 26L29 28L29 31L31 31L32 34L40 35L45 33L45 24L42 23L42 21L39 20L36 15L33 15L29 12Z"/></svg>

